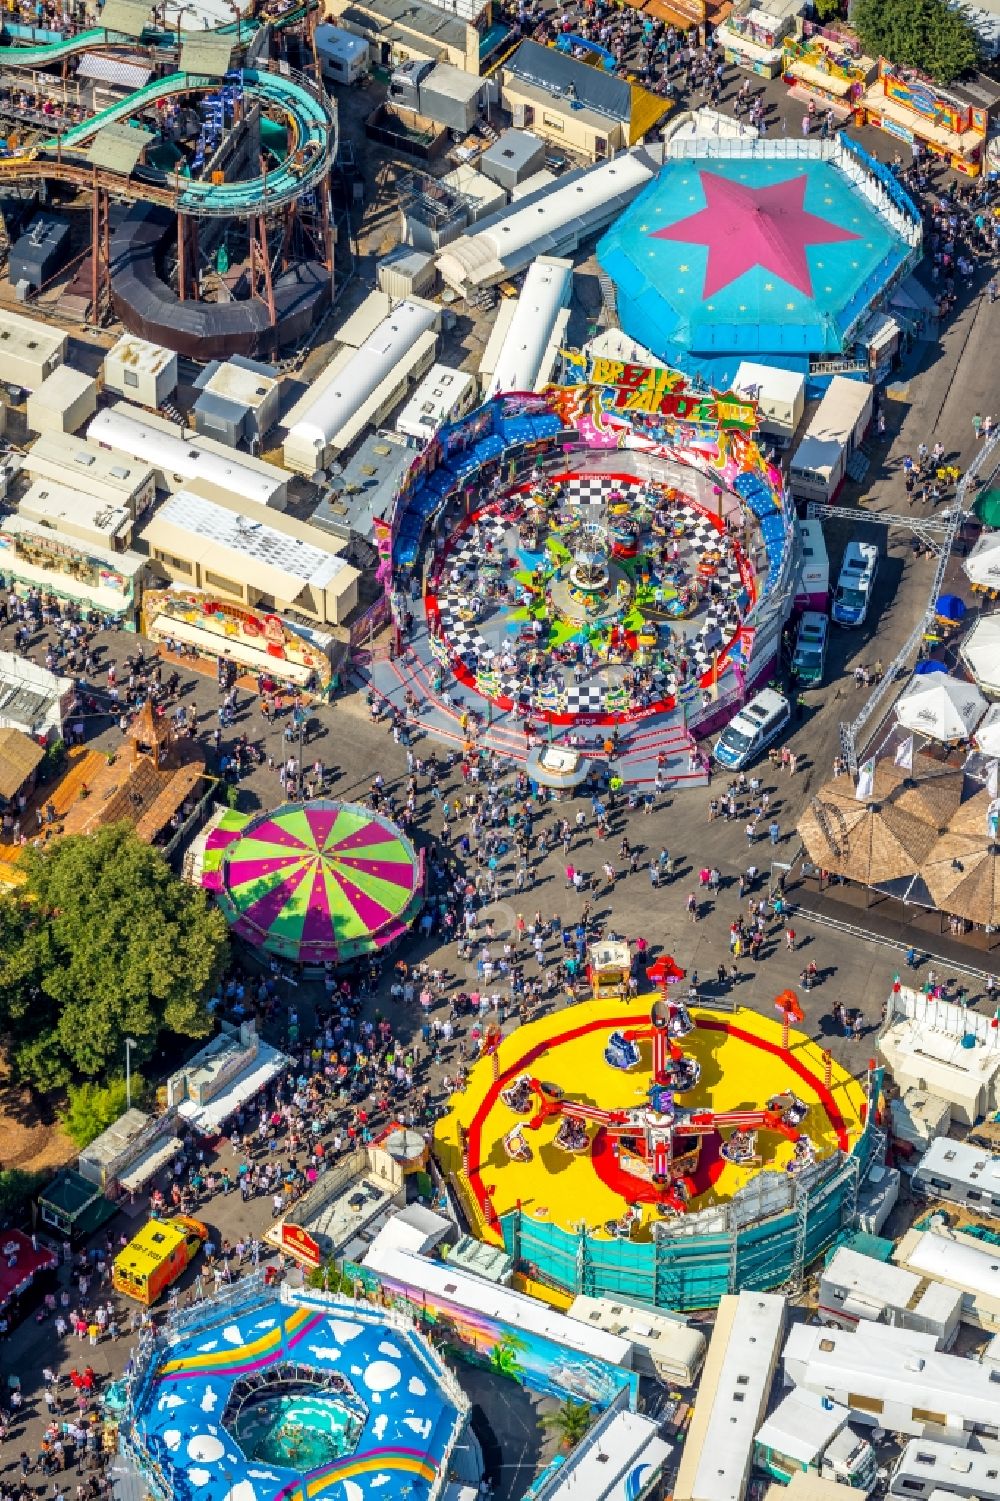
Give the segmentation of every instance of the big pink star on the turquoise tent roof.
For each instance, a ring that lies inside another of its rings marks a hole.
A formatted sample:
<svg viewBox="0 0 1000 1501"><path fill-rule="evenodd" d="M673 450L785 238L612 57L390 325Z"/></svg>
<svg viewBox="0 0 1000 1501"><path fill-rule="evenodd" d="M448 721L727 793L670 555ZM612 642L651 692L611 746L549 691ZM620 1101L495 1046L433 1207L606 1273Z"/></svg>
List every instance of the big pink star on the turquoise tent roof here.
<svg viewBox="0 0 1000 1501"><path fill-rule="evenodd" d="M860 234L809 213L805 207L805 177L790 177L770 188L745 188L716 173L698 173L698 177L704 209L667 230L656 230L650 239L707 246L703 297L728 287L755 266L811 297L806 246L860 240Z"/></svg>

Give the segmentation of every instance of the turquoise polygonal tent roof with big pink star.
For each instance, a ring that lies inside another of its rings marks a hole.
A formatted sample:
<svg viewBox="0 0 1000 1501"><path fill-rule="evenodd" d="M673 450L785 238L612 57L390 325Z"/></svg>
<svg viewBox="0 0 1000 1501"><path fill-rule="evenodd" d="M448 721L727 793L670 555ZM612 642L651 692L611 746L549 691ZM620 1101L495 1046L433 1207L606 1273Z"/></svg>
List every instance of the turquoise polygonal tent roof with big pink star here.
<svg viewBox="0 0 1000 1501"><path fill-rule="evenodd" d="M737 155L668 159L598 245L623 330L716 387L844 353L908 254L836 162Z"/></svg>

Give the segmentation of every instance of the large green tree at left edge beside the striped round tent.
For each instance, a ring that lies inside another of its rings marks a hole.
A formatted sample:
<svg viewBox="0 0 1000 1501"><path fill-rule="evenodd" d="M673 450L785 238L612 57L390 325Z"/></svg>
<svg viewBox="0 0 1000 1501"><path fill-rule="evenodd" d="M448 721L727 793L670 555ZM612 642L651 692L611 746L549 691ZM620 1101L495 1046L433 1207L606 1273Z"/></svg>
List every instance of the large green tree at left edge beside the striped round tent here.
<svg viewBox="0 0 1000 1501"><path fill-rule="evenodd" d="M122 1072L126 1037L138 1064L161 1031L212 1031L225 919L129 824L26 851L23 869L0 896L0 1033L21 1078L104 1079Z"/></svg>

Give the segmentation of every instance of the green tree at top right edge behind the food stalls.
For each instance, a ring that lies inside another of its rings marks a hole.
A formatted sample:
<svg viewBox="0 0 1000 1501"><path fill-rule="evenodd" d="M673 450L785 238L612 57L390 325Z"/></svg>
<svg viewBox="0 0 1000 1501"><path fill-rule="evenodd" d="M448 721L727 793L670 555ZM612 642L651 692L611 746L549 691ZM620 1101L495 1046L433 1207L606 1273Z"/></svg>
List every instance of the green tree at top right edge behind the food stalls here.
<svg viewBox="0 0 1000 1501"><path fill-rule="evenodd" d="M938 84L974 68L979 39L964 11L947 0L857 0L853 24L862 47Z"/></svg>

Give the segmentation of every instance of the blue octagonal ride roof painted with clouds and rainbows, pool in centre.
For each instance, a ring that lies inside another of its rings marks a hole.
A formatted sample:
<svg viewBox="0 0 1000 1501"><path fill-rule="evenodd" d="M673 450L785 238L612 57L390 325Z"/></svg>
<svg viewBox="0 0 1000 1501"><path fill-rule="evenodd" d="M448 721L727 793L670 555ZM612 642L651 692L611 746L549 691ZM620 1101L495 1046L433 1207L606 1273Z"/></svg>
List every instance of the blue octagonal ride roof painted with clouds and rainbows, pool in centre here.
<svg viewBox="0 0 1000 1501"><path fill-rule="evenodd" d="M158 1501L443 1493L468 1400L393 1315L257 1274L170 1325L143 1333L120 1391L122 1451Z"/></svg>

